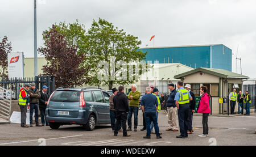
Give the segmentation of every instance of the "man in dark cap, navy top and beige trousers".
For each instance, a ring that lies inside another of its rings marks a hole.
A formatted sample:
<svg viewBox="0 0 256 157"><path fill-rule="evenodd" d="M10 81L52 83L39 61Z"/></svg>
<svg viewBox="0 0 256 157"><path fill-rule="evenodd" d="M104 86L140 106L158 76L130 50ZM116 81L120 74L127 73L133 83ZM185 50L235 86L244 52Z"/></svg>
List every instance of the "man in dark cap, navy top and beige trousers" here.
<svg viewBox="0 0 256 157"><path fill-rule="evenodd" d="M177 93L174 83L168 84L170 95L167 99L167 111L168 111L168 124L169 127L166 131L178 131L178 115L177 115L177 106L175 104L175 95Z"/></svg>

